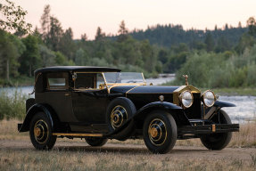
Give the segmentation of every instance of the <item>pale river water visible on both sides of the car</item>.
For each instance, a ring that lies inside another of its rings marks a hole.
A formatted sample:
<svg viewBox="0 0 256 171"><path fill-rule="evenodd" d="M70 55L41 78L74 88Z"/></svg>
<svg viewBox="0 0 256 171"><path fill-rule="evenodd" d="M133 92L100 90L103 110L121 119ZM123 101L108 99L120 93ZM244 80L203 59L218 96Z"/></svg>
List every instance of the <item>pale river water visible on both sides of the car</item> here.
<svg viewBox="0 0 256 171"><path fill-rule="evenodd" d="M171 78L151 78L146 79L147 84L153 83L153 85L162 84L169 81ZM16 89L16 87L2 88L7 90L9 94ZM21 86L18 90L22 94L28 94L33 91L33 86ZM1 91L1 89L0 89ZM34 94L29 95L34 97ZM223 108L234 123L244 123L255 119L256 117L256 96L219 96L220 101L232 102L236 107Z"/></svg>

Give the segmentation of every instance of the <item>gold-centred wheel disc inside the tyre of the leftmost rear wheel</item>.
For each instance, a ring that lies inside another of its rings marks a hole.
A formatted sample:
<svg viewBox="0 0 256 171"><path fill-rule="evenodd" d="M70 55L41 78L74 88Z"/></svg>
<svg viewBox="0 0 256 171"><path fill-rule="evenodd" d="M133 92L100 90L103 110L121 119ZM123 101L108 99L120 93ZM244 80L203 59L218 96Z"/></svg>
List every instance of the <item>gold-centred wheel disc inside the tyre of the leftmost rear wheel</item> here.
<svg viewBox="0 0 256 171"><path fill-rule="evenodd" d="M48 139L49 129L46 122L42 119L38 120L34 126L34 137L38 143L44 143Z"/></svg>

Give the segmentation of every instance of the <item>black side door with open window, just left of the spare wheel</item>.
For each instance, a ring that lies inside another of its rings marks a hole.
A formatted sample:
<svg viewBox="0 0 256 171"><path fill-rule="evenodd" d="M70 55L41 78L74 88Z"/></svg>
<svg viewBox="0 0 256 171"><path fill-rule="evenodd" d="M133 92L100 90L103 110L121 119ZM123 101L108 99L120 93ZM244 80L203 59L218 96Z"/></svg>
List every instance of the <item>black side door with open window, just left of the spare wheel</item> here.
<svg viewBox="0 0 256 171"><path fill-rule="evenodd" d="M101 73L77 73L72 92L74 115L78 122L105 124L107 89Z"/></svg>

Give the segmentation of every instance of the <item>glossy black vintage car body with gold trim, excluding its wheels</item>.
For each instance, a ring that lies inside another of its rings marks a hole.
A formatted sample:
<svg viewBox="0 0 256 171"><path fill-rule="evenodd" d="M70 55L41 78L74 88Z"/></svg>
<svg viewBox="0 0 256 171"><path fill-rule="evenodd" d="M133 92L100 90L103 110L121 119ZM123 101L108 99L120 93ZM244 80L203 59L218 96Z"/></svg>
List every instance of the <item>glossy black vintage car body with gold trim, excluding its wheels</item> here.
<svg viewBox="0 0 256 171"><path fill-rule="evenodd" d="M44 111L52 120L52 126L57 132L65 134L118 134L132 120L136 124L136 131L142 129L147 115L155 110L168 111L178 126L192 126L189 120L201 120L202 97L201 91L193 85L155 86L138 84L107 85L103 88L87 89L75 88L75 74L96 74L102 72L120 72L120 69L101 67L50 67L35 71L35 102L27 112L23 125L19 131L28 131L29 121L37 111ZM65 78L64 82L51 88L50 78ZM96 79L95 79L96 80ZM61 89L58 89L58 87ZM181 105L179 95L190 91L194 96L191 107ZM136 114L124 125L112 132L106 124L106 110L109 103L117 98L125 97L135 104ZM161 98L160 98L161 97ZM229 102L216 101L217 110L222 107L235 106ZM57 120L55 124L55 121ZM138 134L140 132L138 131ZM63 135L65 136L65 135Z"/></svg>

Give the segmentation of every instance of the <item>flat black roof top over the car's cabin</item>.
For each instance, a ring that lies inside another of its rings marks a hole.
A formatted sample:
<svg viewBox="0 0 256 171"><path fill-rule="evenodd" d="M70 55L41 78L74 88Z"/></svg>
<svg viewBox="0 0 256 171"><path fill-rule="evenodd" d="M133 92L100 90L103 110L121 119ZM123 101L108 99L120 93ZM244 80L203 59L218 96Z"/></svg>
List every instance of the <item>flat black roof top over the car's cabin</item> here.
<svg viewBox="0 0 256 171"><path fill-rule="evenodd" d="M54 66L35 70L38 72L58 72L58 71L89 71L89 72L120 72L121 69L109 67L93 67L93 66Z"/></svg>

